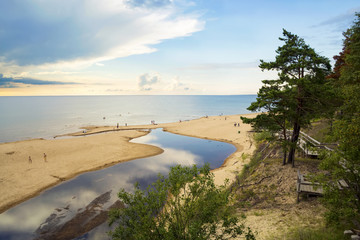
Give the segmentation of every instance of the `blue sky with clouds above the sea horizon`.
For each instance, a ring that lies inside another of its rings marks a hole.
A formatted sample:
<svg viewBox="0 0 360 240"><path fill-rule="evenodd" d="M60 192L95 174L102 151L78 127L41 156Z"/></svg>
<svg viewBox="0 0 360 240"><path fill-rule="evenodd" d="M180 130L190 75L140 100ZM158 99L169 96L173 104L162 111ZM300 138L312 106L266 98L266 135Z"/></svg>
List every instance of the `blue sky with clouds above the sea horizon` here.
<svg viewBox="0 0 360 240"><path fill-rule="evenodd" d="M322 56L359 0L0 1L0 96L256 94L282 29ZM333 62L333 60L332 60Z"/></svg>

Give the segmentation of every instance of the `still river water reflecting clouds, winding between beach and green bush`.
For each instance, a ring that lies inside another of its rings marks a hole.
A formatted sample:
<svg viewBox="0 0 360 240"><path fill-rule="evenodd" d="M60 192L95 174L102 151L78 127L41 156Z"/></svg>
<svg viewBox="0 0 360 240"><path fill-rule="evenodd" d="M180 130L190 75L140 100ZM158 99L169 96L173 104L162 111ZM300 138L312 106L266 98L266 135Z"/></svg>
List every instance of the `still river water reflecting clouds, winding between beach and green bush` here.
<svg viewBox="0 0 360 240"><path fill-rule="evenodd" d="M155 145L164 152L81 174L5 211L0 214L0 239L98 239L99 234L106 238L109 228L102 223L109 207L121 207L117 202L120 189L132 191L135 182L145 189L158 173L167 175L177 164L209 163L212 169L218 168L236 150L228 143L162 129L131 142Z"/></svg>

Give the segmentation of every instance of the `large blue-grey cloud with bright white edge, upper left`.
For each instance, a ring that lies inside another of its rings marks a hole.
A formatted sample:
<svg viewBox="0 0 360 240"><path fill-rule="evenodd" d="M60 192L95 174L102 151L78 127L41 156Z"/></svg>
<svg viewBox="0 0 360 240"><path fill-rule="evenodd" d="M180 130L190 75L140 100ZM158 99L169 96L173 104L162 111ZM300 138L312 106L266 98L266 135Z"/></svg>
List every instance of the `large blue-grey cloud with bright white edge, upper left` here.
<svg viewBox="0 0 360 240"><path fill-rule="evenodd" d="M0 34L0 61L14 71L102 66L100 62L107 60L152 53L157 51L153 45L190 36L204 27L198 15L179 12L173 1L166 0L22 3L0 2L0 21L7 23L2 29L5 34ZM167 7L154 8L156 3ZM0 65L0 72L5 70Z"/></svg>

